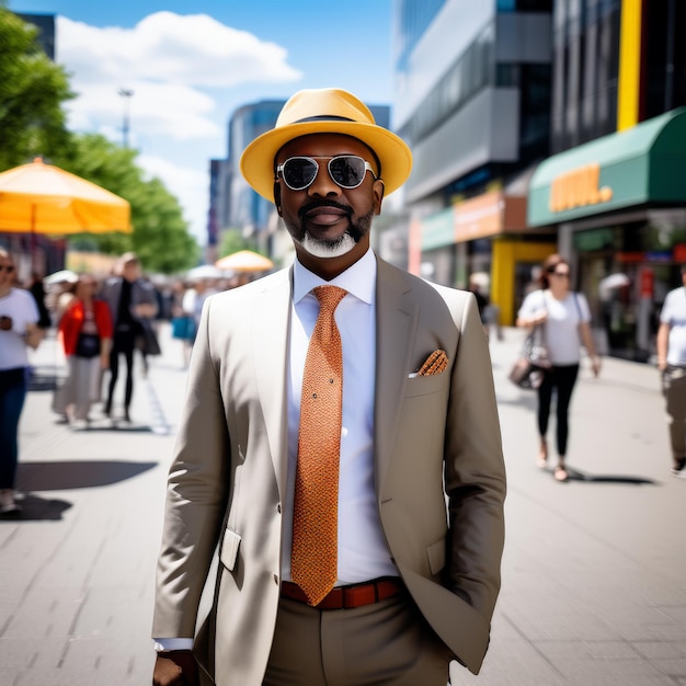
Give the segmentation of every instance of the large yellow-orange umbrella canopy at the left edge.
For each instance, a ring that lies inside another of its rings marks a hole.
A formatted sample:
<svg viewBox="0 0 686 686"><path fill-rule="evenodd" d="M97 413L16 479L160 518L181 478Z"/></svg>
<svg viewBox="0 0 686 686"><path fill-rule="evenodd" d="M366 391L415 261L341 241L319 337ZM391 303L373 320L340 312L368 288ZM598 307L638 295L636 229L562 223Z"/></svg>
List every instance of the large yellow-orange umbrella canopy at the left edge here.
<svg viewBox="0 0 686 686"><path fill-rule="evenodd" d="M0 173L0 232L129 233L127 201L36 158Z"/></svg>

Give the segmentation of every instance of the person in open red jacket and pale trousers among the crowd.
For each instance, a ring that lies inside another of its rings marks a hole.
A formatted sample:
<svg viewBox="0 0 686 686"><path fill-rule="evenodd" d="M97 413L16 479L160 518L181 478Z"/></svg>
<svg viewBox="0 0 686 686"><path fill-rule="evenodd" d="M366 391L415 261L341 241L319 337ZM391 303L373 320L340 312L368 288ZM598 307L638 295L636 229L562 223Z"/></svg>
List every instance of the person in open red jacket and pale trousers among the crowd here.
<svg viewBox="0 0 686 686"><path fill-rule="evenodd" d="M77 430L88 427L91 405L100 398L101 370L110 365L112 316L107 304L94 297L96 286L92 275L81 274L58 327L68 370L53 410Z"/></svg>

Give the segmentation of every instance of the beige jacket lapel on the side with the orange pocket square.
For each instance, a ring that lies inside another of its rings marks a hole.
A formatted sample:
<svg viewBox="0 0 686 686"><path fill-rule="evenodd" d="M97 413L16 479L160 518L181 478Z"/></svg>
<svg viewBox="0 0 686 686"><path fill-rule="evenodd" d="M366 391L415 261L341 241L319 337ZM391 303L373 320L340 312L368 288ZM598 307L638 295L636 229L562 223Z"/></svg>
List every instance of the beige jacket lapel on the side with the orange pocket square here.
<svg viewBox="0 0 686 686"><path fill-rule="evenodd" d="M374 441L377 493L380 496L398 433L404 386L411 371L419 305L410 297L412 287L400 271L381 260L377 260L377 264Z"/></svg>

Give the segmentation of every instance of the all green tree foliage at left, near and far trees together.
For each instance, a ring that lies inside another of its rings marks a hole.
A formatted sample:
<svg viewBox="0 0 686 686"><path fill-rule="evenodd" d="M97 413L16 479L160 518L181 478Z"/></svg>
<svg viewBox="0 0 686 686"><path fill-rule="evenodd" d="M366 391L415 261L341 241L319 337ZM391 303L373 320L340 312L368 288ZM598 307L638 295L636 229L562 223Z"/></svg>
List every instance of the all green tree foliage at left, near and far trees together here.
<svg viewBox="0 0 686 686"><path fill-rule="evenodd" d="M134 232L70 237L78 249L138 253L148 272L171 274L197 263L199 248L179 201L159 179L147 179L137 152L103 136L71 134L62 103L75 94L61 67L43 53L37 28L0 0L0 171L42 156L107 188L132 206Z"/></svg>

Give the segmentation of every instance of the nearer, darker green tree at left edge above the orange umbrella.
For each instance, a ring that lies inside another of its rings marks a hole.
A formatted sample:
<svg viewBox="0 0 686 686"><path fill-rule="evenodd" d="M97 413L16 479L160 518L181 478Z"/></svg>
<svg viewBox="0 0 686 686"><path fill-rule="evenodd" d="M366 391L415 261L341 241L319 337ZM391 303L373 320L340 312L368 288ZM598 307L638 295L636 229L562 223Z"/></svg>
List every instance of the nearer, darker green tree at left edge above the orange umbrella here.
<svg viewBox="0 0 686 686"><path fill-rule="evenodd" d="M61 104L75 95L37 33L0 2L0 171L69 145Z"/></svg>

